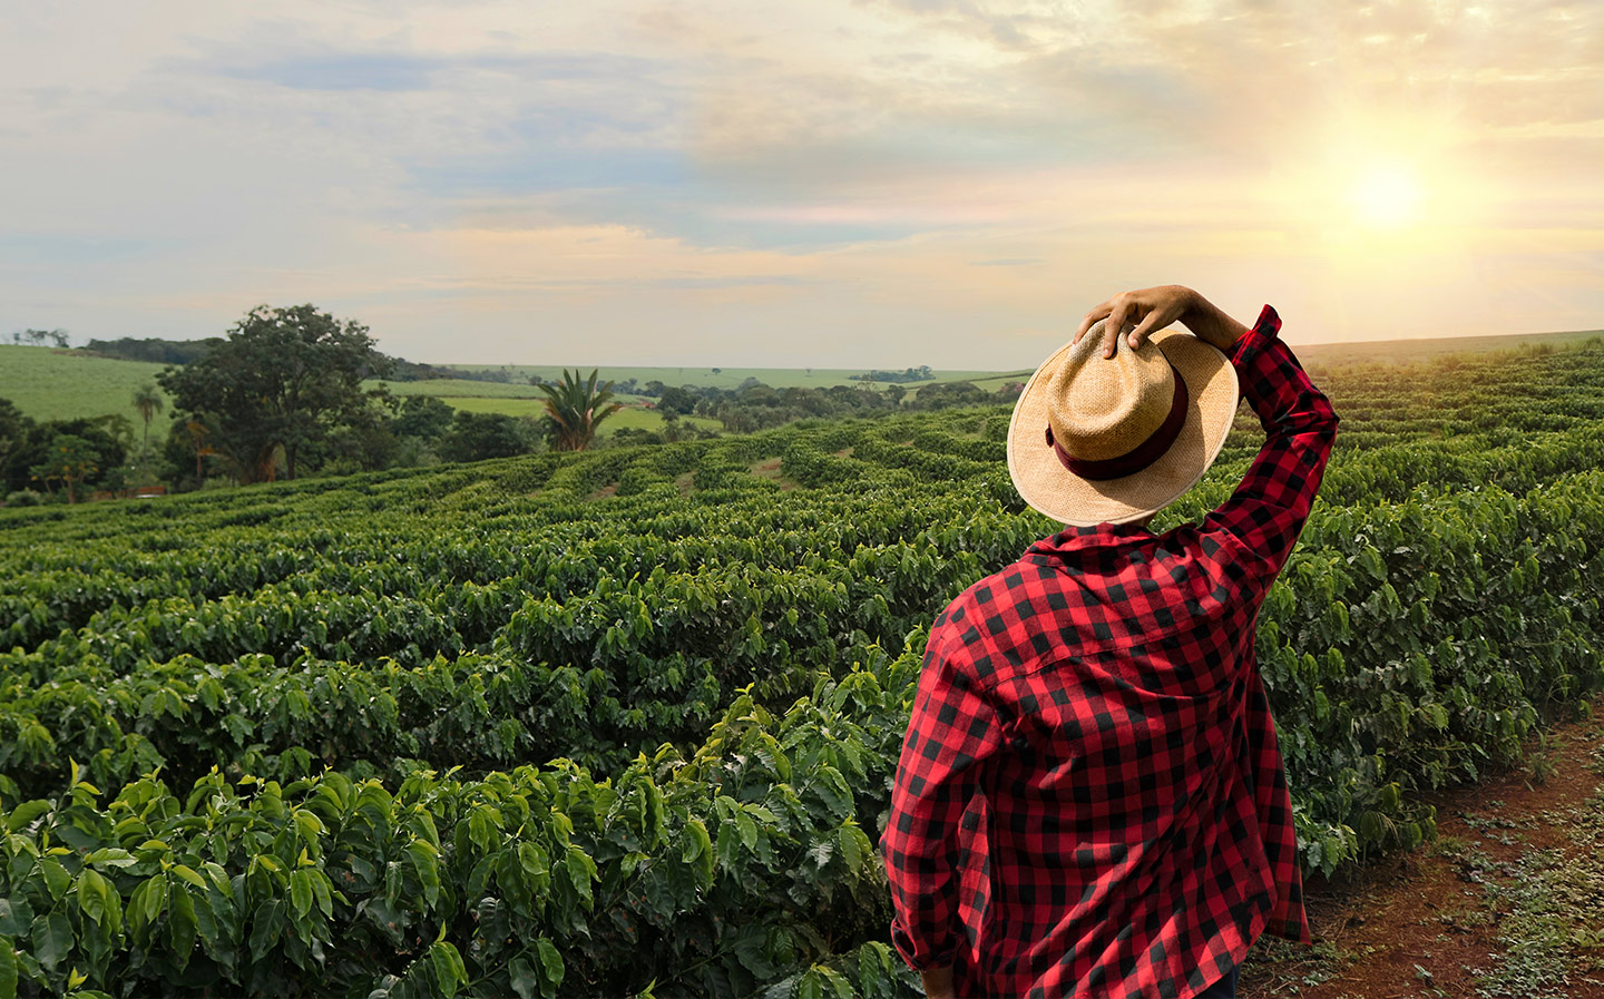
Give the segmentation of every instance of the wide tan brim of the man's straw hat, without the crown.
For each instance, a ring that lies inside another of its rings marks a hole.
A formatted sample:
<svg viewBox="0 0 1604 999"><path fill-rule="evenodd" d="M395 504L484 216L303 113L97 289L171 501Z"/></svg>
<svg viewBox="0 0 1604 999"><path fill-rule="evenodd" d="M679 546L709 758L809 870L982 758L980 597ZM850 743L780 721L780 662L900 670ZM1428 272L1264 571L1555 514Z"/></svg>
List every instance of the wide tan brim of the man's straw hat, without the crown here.
<svg viewBox="0 0 1604 999"><path fill-rule="evenodd" d="M1081 478L1063 467L1046 441L1047 382L1071 343L1043 361L1025 383L1009 422L1007 470L1020 497L1035 510L1075 526L1140 520L1195 486L1219 457L1241 399L1237 369L1217 346L1176 327L1158 330L1150 343L1185 380L1187 417L1169 449L1132 475Z"/></svg>

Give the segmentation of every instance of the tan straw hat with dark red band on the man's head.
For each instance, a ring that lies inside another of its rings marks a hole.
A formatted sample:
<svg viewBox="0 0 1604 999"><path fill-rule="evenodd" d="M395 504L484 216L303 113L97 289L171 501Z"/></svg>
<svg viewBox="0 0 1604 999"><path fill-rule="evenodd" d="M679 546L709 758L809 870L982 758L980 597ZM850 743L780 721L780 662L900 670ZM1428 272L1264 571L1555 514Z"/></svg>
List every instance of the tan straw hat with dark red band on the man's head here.
<svg viewBox="0 0 1604 999"><path fill-rule="evenodd" d="M1203 478L1240 399L1211 343L1168 327L1132 348L1126 322L1104 358L1107 321L1030 377L1007 430L1007 470L1027 504L1065 524L1123 524Z"/></svg>

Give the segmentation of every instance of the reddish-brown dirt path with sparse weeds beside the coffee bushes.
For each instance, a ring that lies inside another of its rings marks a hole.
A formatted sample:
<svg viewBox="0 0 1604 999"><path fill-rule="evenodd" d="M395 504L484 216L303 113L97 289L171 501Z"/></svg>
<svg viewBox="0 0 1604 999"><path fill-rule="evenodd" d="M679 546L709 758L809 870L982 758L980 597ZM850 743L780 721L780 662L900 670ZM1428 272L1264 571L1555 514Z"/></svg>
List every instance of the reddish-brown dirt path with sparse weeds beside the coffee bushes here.
<svg viewBox="0 0 1604 999"><path fill-rule="evenodd" d="M1307 888L1314 948L1261 940L1243 999L1604 999L1604 696L1527 765L1428 795L1437 840Z"/></svg>

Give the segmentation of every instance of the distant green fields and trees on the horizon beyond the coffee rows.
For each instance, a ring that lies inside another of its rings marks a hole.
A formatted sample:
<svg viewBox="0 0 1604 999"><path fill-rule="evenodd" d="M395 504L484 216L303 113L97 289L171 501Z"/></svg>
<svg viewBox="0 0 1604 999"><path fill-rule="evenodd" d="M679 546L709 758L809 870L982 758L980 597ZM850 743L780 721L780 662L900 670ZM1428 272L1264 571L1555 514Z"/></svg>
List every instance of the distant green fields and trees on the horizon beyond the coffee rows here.
<svg viewBox="0 0 1604 999"><path fill-rule="evenodd" d="M298 340L266 335L287 319L300 330ZM335 330L350 335L354 329L363 330L363 343L342 353ZM252 346L253 338L261 342ZM412 362L379 351L361 324L337 322L310 305L257 309L226 335L205 340L124 337L66 350L66 330L26 330L11 342L0 345L0 497L11 502L473 462L569 449L576 439L585 449L672 444L797 420L1006 406L1030 375L954 377L929 366L901 372L592 370L590 404L558 402L563 419L577 423L587 409L603 414L592 414L589 430L574 438L565 436L552 404L584 388L579 370L547 377L550 369L525 366ZM1513 350L1440 358L1432 370L1489 362L1497 369L1508 362L1500 358L1586 342L1585 334L1464 338ZM1421 342L1402 353L1386 353L1384 345L1315 345L1299 348L1299 356L1322 385L1325 378L1341 383L1352 370L1391 383L1415 378L1413 369L1392 361L1431 358L1448 343L1455 342ZM1373 362L1355 367L1371 354ZM624 377L602 377L613 372ZM683 380L675 383L675 377ZM56 438L72 439L59 444Z"/></svg>

